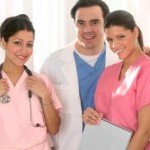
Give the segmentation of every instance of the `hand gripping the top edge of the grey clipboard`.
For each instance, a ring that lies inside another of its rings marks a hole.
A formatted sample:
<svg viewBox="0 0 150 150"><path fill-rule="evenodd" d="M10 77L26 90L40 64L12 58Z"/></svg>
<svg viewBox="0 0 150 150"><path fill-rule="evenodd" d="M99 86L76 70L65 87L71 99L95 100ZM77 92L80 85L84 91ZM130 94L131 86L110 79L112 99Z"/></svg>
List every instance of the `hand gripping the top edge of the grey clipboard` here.
<svg viewBox="0 0 150 150"><path fill-rule="evenodd" d="M102 117L102 113L98 113L96 110L90 107L88 107L82 115L83 122L90 125L98 125Z"/></svg>

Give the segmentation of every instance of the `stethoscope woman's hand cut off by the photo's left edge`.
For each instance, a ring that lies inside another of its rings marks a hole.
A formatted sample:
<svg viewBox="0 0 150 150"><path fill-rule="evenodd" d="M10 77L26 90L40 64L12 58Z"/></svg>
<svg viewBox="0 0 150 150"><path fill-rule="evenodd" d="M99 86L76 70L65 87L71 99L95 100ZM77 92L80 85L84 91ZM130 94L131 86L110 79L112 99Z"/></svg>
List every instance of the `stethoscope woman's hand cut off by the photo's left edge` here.
<svg viewBox="0 0 150 150"><path fill-rule="evenodd" d="M9 86L6 79L0 79L0 96L6 94L9 90Z"/></svg>

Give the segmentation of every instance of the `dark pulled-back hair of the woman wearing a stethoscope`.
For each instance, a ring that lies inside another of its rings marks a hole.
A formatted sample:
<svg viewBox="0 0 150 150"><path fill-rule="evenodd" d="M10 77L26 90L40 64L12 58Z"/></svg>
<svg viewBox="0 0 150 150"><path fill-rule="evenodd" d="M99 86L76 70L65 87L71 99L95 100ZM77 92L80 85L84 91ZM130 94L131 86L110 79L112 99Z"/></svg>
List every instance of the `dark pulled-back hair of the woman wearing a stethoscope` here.
<svg viewBox="0 0 150 150"><path fill-rule="evenodd" d="M35 35L35 30L32 25L32 22L30 21L29 17L25 14L20 14L5 19L0 27L0 38L3 37L4 40L8 42L11 36L13 36L21 30L31 31Z"/></svg>

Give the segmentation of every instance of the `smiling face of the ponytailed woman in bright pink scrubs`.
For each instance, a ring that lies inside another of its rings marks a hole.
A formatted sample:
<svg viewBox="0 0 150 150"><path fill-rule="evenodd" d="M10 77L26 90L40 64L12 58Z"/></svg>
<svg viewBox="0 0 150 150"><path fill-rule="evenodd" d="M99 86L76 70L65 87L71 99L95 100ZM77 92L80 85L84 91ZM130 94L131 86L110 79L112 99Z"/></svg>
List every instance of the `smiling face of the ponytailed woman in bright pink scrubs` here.
<svg viewBox="0 0 150 150"><path fill-rule="evenodd" d="M105 29L106 40L110 49L119 59L125 60L134 55L138 45L138 28L133 31L123 26L110 26Z"/></svg>

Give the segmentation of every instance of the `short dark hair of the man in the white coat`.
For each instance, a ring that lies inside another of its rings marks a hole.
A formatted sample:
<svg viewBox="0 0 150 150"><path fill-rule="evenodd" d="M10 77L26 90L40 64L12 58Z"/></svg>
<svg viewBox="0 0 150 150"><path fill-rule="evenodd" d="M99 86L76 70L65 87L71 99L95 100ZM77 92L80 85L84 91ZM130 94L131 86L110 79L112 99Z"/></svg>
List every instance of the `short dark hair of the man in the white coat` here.
<svg viewBox="0 0 150 150"><path fill-rule="evenodd" d="M105 17L109 14L109 7L107 6L107 4L105 2L103 2L102 0L78 0L76 2L76 4L73 6L73 8L71 9L71 17L75 20L75 15L76 15L76 11L79 8L82 7L90 7L90 6L99 6L102 9L103 12L103 18L105 19Z"/></svg>

